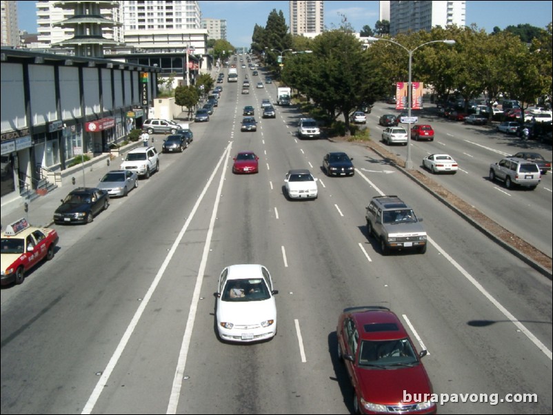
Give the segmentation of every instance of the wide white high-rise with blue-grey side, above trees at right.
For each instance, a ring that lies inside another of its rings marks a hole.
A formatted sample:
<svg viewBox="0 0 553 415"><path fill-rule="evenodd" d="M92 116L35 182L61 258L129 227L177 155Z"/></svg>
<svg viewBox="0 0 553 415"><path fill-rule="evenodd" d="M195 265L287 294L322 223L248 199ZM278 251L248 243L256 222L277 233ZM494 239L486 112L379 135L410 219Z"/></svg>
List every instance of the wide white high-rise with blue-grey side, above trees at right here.
<svg viewBox="0 0 553 415"><path fill-rule="evenodd" d="M390 17L390 34L431 30L435 26L465 26L466 1L381 1L380 19ZM389 5L389 9L387 9Z"/></svg>

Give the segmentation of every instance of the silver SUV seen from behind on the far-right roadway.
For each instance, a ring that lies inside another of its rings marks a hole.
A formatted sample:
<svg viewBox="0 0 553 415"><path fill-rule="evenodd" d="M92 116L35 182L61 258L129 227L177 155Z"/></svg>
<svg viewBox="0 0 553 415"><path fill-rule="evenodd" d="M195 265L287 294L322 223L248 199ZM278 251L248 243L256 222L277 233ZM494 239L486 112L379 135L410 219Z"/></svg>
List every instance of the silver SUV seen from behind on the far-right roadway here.
<svg viewBox="0 0 553 415"><path fill-rule="evenodd" d="M499 180L505 188L514 185L534 190L541 181L540 169L536 163L515 157L505 157L499 163L490 164L490 181Z"/></svg>

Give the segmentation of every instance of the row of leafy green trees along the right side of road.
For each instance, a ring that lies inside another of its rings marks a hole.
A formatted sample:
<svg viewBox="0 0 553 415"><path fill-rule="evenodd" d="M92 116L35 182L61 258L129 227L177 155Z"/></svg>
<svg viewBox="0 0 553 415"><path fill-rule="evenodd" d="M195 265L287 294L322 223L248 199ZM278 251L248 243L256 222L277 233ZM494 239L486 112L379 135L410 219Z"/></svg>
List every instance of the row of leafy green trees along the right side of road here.
<svg viewBox="0 0 553 415"><path fill-rule="evenodd" d="M454 93L466 103L481 94L490 101L519 99L526 106L544 97L550 101L552 24L545 30L536 28L532 36L527 43L511 30L487 34L476 26L453 26L399 34L393 39L381 36L403 48L389 41L368 45L347 23L314 39L292 37L283 12L272 10L266 26L254 28L252 52L284 83L309 97L330 117L342 114L348 123L350 112L359 103L393 94L396 82L408 81L408 51L414 51L412 80L432 85L441 99ZM455 44L433 43L419 48L423 43L445 39ZM311 53L297 53L301 51Z"/></svg>

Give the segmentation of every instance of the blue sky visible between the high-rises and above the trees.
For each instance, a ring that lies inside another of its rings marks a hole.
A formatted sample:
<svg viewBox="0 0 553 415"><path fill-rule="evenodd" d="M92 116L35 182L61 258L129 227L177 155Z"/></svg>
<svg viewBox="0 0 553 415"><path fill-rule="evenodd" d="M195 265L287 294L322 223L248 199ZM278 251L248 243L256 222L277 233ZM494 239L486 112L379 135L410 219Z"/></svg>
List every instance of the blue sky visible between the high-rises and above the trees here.
<svg viewBox="0 0 553 415"><path fill-rule="evenodd" d="M37 10L34 1L18 1L19 28L37 32ZM227 39L235 47L249 46L254 26L265 27L269 13L282 10L288 21L288 1L199 1L202 17L225 19ZM476 23L491 32L495 26L529 23L545 28L552 21L552 1L467 1L466 24ZM356 32L363 26L374 28L379 20L379 1L325 1L325 26L337 28L345 16Z"/></svg>

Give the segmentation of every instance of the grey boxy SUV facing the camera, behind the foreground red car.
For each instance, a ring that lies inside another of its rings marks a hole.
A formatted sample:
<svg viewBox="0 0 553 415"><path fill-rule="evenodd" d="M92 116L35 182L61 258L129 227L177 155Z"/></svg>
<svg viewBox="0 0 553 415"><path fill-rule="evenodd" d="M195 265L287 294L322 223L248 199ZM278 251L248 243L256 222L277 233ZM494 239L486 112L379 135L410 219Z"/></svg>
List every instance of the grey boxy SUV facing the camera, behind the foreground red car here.
<svg viewBox="0 0 553 415"><path fill-rule="evenodd" d="M392 250L426 252L423 219L417 218L398 196L374 196L366 209L367 234L379 241L383 255Z"/></svg>

